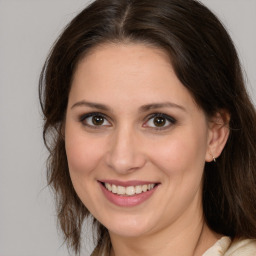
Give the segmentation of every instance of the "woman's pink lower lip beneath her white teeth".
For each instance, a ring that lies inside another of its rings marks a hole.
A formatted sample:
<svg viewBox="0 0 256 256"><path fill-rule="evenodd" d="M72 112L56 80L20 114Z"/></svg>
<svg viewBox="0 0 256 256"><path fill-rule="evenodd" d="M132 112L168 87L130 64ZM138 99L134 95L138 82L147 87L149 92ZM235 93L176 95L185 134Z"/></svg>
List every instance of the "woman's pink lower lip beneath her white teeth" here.
<svg viewBox="0 0 256 256"><path fill-rule="evenodd" d="M101 183L100 187L103 191L103 194L111 203L122 207L132 207L142 204L147 199L149 199L156 191L156 188L158 186L155 186L153 189L148 190L146 192L142 192L141 194L135 194L134 196L120 196L117 194L113 194L112 192L108 191L106 187Z"/></svg>

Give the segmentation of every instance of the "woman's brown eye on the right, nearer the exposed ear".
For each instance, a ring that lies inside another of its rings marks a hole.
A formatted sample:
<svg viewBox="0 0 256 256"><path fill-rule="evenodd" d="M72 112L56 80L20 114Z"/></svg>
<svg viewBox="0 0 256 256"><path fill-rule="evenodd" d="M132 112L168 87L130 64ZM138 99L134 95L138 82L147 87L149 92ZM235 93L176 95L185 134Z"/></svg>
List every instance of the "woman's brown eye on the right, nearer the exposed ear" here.
<svg viewBox="0 0 256 256"><path fill-rule="evenodd" d="M164 129L176 123L176 120L166 114L156 113L149 117L147 122L143 124L144 127Z"/></svg>

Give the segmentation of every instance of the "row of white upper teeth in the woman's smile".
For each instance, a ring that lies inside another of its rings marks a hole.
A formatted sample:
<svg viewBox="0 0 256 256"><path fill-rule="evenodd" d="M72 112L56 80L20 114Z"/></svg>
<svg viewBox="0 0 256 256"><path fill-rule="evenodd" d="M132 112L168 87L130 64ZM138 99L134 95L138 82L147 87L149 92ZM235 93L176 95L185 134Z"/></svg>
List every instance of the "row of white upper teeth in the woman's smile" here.
<svg viewBox="0 0 256 256"><path fill-rule="evenodd" d="M137 186L129 186L129 187L116 186L114 184L111 185L109 183L104 183L104 185L108 191L111 191L114 194L125 195L125 196L133 196L135 194L141 194L155 187L155 184L153 183L148 185L137 185Z"/></svg>

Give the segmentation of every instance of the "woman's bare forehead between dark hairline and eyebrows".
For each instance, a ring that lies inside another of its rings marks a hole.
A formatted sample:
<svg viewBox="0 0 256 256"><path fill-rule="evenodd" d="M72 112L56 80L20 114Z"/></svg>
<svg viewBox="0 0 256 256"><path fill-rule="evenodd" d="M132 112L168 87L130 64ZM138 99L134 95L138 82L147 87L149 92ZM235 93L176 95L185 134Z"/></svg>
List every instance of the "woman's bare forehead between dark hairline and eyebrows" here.
<svg viewBox="0 0 256 256"><path fill-rule="evenodd" d="M93 48L78 64L71 100L106 104L192 102L177 78L167 53L143 44L104 44Z"/></svg>

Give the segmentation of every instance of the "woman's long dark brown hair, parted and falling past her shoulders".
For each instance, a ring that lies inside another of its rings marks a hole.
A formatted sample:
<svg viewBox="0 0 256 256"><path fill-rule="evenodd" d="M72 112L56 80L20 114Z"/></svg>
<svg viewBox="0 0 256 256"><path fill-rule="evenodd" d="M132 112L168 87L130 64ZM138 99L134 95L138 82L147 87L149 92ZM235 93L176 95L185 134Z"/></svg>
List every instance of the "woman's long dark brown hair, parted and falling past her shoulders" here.
<svg viewBox="0 0 256 256"><path fill-rule="evenodd" d="M90 213L71 183L62 125L77 63L92 47L106 42L164 49L177 77L207 116L223 109L229 112L230 136L223 153L217 163L205 165L204 215L217 233L255 238L256 112L223 25L194 0L96 0L65 28L40 77L43 135L50 152L48 182L55 191L58 220L68 245L79 252L82 223ZM97 250L109 247L106 228L94 222Z"/></svg>

